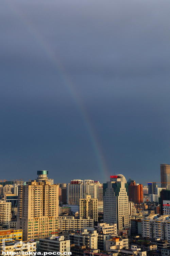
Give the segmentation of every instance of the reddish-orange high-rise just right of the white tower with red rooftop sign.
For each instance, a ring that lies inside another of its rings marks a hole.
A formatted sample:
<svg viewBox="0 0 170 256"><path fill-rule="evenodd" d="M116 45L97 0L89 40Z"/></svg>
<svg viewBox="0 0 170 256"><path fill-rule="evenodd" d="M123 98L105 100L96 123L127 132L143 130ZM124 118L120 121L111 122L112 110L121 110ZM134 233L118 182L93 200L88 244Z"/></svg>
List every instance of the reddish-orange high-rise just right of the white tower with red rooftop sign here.
<svg viewBox="0 0 170 256"><path fill-rule="evenodd" d="M143 185L136 185L135 181L131 181L128 186L129 201L134 203L143 203Z"/></svg>

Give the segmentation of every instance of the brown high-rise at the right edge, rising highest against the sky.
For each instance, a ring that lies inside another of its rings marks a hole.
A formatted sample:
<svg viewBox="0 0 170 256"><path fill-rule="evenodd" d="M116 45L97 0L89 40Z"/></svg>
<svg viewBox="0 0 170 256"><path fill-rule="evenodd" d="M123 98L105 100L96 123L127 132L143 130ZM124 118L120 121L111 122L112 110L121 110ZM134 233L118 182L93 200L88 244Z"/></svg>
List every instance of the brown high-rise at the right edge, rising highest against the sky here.
<svg viewBox="0 0 170 256"><path fill-rule="evenodd" d="M170 165L166 163L160 165L160 181L161 187L170 190Z"/></svg>

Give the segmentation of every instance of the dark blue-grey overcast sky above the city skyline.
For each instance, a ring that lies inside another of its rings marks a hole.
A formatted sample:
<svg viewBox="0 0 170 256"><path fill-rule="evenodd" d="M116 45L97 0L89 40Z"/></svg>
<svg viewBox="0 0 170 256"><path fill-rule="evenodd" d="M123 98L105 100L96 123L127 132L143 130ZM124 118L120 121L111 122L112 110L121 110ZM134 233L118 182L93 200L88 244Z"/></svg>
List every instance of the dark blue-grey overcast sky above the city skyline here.
<svg viewBox="0 0 170 256"><path fill-rule="evenodd" d="M169 0L1 1L0 179L160 181L169 11Z"/></svg>

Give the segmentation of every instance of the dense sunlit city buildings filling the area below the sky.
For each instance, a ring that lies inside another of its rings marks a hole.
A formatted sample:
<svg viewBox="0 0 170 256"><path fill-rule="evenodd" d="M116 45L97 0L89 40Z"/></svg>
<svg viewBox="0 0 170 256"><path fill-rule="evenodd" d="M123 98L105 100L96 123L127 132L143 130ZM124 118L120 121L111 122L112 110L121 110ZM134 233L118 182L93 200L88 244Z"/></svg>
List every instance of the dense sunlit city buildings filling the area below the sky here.
<svg viewBox="0 0 170 256"><path fill-rule="evenodd" d="M0 255L170 256L170 165L160 165L160 186L122 174L104 184L37 175L0 182Z"/></svg>

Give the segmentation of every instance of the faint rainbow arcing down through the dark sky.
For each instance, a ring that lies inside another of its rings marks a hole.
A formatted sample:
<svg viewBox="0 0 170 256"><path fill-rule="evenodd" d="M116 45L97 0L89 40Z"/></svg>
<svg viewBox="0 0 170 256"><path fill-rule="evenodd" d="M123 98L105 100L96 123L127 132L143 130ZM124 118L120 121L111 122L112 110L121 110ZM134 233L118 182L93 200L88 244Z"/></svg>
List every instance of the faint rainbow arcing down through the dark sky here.
<svg viewBox="0 0 170 256"><path fill-rule="evenodd" d="M80 113L80 116L82 117L84 126L89 134L89 139L90 139L94 154L96 156L96 160L98 163L98 168L99 168L99 173L101 175L101 178L103 179L103 181L107 181L108 177L109 177L108 168L106 165L104 154L102 152L101 145L99 143L97 133L95 132L95 128L87 114L87 111L85 109L85 106L83 105L81 97L78 94L77 90L75 89L73 83L71 82L70 77L68 76L66 70L64 69L59 57L55 55L55 53L50 48L50 45L48 44L48 42L41 36L39 31L35 29L33 24L31 24L31 21L26 17L25 14L23 14L21 9L16 7L16 3L15 3L15 5L12 3L12 1L8 1L6 3L8 3L8 6L16 14L17 18L19 17L21 19L22 24L24 24L26 26L28 32L34 36L35 40L43 48L48 59L52 62L52 64L54 65L54 67L56 68L58 73L60 74L61 79L64 82L64 85L66 86L72 99L74 100L74 102L77 105L77 109Z"/></svg>

